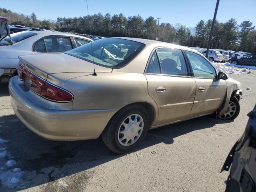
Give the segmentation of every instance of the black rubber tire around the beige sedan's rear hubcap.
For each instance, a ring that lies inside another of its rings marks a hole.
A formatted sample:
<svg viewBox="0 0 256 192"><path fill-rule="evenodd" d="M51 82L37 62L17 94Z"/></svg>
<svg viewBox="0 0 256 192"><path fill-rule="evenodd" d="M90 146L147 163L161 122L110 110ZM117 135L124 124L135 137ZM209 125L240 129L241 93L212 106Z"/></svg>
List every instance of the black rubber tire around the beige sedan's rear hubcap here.
<svg viewBox="0 0 256 192"><path fill-rule="evenodd" d="M118 141L118 130L122 122L125 120L125 118L131 114L139 114L144 121L144 126L143 126L143 130L140 137L136 142L134 142L134 144L130 146L123 146ZM147 110L143 106L140 106L140 105L127 106L119 110L108 122L108 125L102 132L102 140L104 144L115 153L121 154L121 153L132 151L137 146L139 146L141 142L144 140L148 132L148 128L150 126L149 122L150 121L149 121Z"/></svg>

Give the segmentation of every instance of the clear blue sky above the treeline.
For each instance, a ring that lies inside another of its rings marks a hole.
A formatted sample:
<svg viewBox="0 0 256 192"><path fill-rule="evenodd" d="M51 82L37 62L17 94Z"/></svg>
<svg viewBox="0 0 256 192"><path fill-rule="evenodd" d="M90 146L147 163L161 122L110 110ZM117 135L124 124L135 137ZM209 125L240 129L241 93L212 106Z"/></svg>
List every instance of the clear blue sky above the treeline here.
<svg viewBox="0 0 256 192"><path fill-rule="evenodd" d="M89 14L140 14L144 19L153 16L161 18L160 22L191 27L201 19L212 19L215 5L216 0L88 0ZM2 0L0 7L25 15L35 12L38 19L87 15L86 0ZM226 22L230 18L238 24L250 20L256 25L256 0L220 0L216 19Z"/></svg>

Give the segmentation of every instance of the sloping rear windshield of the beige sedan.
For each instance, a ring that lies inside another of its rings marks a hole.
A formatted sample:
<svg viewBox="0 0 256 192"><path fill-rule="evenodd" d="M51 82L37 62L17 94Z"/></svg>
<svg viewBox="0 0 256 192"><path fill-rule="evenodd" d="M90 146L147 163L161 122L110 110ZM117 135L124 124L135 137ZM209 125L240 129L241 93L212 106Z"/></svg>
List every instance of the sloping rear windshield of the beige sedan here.
<svg viewBox="0 0 256 192"><path fill-rule="evenodd" d="M119 38L102 38L65 52L108 68L120 68L132 60L144 44Z"/></svg>

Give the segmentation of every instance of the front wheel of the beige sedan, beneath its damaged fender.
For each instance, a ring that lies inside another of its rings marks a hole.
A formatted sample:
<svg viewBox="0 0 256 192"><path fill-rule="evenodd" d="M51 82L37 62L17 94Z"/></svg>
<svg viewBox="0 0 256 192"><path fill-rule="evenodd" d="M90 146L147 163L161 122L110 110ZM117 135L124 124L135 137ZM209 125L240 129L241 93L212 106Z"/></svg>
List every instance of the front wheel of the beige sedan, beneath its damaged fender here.
<svg viewBox="0 0 256 192"><path fill-rule="evenodd" d="M234 120L240 112L240 104L235 96L230 98L228 103L228 108L221 116L218 116L220 119Z"/></svg>

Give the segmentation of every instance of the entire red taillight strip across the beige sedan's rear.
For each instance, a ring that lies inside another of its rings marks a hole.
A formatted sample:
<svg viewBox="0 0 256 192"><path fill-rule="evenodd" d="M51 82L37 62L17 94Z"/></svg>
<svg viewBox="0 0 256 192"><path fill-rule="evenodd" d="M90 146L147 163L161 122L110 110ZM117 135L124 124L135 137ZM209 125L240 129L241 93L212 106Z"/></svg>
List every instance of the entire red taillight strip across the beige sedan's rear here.
<svg viewBox="0 0 256 192"><path fill-rule="evenodd" d="M20 80L25 80L25 76L27 76L27 85L31 90L33 90L41 97L56 102L70 102L73 100L73 95L71 93L53 84L50 84L49 82L46 82L46 80L36 76L21 64L18 67L18 76L20 77Z"/></svg>

